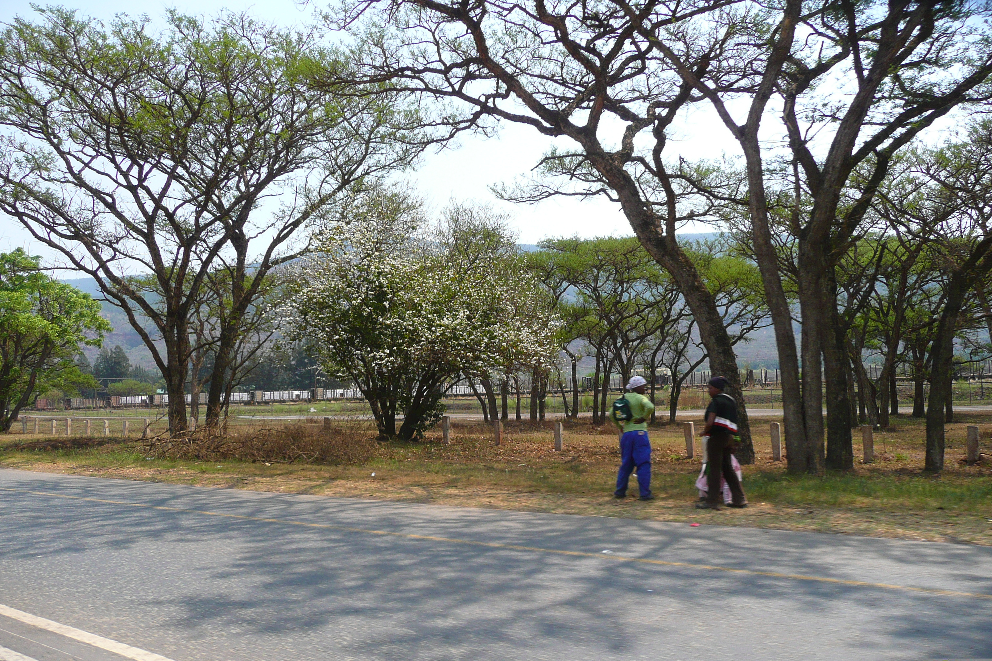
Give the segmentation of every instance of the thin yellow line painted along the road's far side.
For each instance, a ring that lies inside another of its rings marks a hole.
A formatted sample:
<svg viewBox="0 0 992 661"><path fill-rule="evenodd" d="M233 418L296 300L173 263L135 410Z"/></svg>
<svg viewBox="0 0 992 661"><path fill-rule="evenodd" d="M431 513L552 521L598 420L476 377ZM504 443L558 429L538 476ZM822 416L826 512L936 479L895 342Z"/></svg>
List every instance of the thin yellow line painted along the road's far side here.
<svg viewBox="0 0 992 661"><path fill-rule="evenodd" d="M468 546L482 546L493 549L503 549L508 551L532 551L536 553L551 553L555 555L566 555L580 558L598 558L600 560L613 560L619 562L635 562L644 565L661 565L664 567L683 567L686 569L701 569L711 572L727 572L730 574L743 574L747 576L768 576L774 579L791 579L794 581L813 581L815 583L828 583L841 586L855 586L858 588L877 588L881 590L899 590L903 592L925 593L928 595L941 595L944 597L965 597L969 599L992 600L992 595L981 593L965 593L955 590L938 590L936 588L914 588L912 586L897 586L888 583L871 583L869 581L848 581L845 579L830 579L823 576L806 576L803 574L785 574L782 572L759 572L753 569L736 569L733 567L720 567L718 565L698 565L690 562L674 562L671 560L652 560L650 558L632 558L629 556L590 553L587 551L565 551L561 549L549 549L540 546L523 546L521 544L504 544L501 542L480 542L472 539L457 539L454 537L437 537L434 535L417 535L408 532L392 532L389 530L373 530L369 528L356 528L347 525L335 525L333 523L309 523L307 521L295 521L293 519L266 518L262 516L248 516L246 514L229 514L220 511L207 511L204 509L189 509L186 507L167 507L165 505L152 505L143 502L125 502L123 500L108 500L105 498L93 498L87 496L68 496L65 494L53 494L51 492L35 492L25 489L9 489L0 487L0 491L16 492L19 494L32 494L34 496L53 496L58 498L69 498L73 500L85 500L88 502L102 502L105 504L124 505L128 507L141 507L145 509L161 509L163 511L184 512L187 514L202 514L205 516L223 516L245 521L261 521L265 523L281 523L284 525L300 525L309 528L323 528L326 530L340 530L343 532L357 532L368 535L389 535L402 537L405 539L423 539L434 542L446 542L449 544L465 544Z"/></svg>

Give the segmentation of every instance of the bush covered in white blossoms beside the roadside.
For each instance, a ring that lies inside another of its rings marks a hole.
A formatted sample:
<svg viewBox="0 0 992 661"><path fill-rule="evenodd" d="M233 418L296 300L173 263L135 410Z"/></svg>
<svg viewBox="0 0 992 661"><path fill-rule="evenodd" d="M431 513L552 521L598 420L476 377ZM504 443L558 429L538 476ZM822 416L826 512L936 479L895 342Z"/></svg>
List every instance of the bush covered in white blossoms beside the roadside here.
<svg viewBox="0 0 992 661"><path fill-rule="evenodd" d="M464 259L399 197L370 195L357 218L317 238L289 308L325 371L369 400L380 436L410 439L437 421L461 374L550 366L558 321L515 258Z"/></svg>

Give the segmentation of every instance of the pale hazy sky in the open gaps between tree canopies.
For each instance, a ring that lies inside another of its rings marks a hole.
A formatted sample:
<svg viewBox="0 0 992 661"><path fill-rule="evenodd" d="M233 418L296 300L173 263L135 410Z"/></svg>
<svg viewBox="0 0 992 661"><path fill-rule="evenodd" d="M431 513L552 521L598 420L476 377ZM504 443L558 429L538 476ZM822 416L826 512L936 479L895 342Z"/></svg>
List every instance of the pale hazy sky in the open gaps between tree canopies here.
<svg viewBox="0 0 992 661"><path fill-rule="evenodd" d="M323 4L320 0L317 3ZM44 4L44 3L42 3ZM303 24L310 19L312 8L302 7L291 0L262 0L256 3L236 4L225 0L178 0L176 2L135 3L126 0L64 0L67 7L78 7L84 14L98 19L109 19L117 13L141 12L155 17L162 16L167 7L195 15L215 14L222 9L247 11L260 19L281 25ZM0 2L0 21L8 22L14 16L33 15L29 0L4 0ZM689 118L686 118L689 119ZM690 159L719 158L721 150L733 143L726 129L710 113L697 112L684 126L685 135L678 145L682 155ZM608 200L578 200L562 198L547 200L535 205L509 204L497 200L489 186L512 182L526 174L537 164L542 154L553 144L530 127L506 125L497 137L481 139L463 137L457 146L440 153L425 155L423 162L410 174L422 193L437 207L451 198L474 199L490 202L511 214L512 224L520 234L521 243L536 243L553 236L583 237L603 235L630 235L629 224L616 204ZM561 141L562 148L568 141ZM686 227L686 232L706 232L705 225ZM0 217L0 251L23 246L36 254L47 251L34 244L27 233L6 217Z"/></svg>

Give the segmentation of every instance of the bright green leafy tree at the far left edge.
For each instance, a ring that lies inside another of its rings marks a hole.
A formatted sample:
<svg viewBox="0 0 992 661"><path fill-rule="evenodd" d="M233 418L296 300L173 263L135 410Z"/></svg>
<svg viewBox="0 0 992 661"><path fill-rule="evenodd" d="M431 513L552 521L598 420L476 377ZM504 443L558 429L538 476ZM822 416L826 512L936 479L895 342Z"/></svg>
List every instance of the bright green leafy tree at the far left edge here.
<svg viewBox="0 0 992 661"><path fill-rule="evenodd" d="M42 273L41 259L18 248L0 254L0 430L47 390L96 386L75 360L98 347L110 324L100 304Z"/></svg>

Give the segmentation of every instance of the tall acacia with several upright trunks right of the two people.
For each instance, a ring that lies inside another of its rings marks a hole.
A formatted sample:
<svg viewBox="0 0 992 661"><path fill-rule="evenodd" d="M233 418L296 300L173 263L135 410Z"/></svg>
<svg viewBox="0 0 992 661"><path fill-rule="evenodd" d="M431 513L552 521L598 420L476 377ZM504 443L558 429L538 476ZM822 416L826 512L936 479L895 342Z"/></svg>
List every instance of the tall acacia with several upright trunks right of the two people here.
<svg viewBox="0 0 992 661"><path fill-rule="evenodd" d="M939 0L786 0L760 10L720 3L696 6L692 20L673 23L650 3L611 4L623 7L740 145L748 193L738 200L749 209L772 309L790 471L817 473L824 466L821 367L827 443L835 450L828 464L850 468L849 386L835 268L861 231L898 152L955 107L990 97L992 42L984 20L989 8ZM768 110L773 97L781 104L776 128L788 138L785 161L794 170L795 212L787 228L798 240L802 386L770 217L770 198L780 195L765 162L778 155L774 143L759 139L763 123L774 119Z"/></svg>

